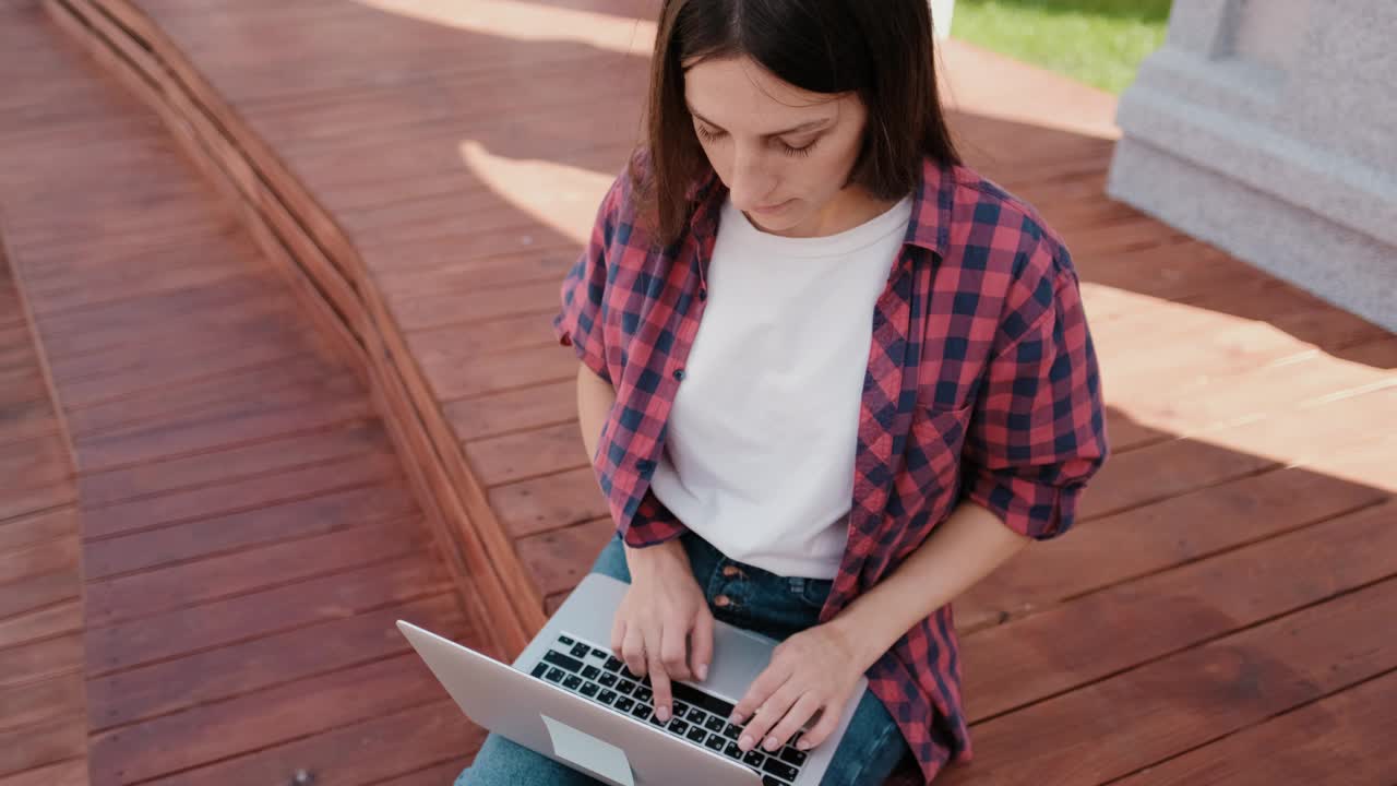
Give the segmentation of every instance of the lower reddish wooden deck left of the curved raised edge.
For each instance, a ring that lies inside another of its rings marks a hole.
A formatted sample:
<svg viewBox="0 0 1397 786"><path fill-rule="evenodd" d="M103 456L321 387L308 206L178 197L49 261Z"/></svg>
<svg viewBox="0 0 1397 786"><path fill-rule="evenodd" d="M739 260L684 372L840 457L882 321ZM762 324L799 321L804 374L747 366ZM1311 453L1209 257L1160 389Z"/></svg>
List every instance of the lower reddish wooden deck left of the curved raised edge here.
<svg viewBox="0 0 1397 786"><path fill-rule="evenodd" d="M358 373L38 6L0 60L0 785L450 782L393 622L492 645Z"/></svg>

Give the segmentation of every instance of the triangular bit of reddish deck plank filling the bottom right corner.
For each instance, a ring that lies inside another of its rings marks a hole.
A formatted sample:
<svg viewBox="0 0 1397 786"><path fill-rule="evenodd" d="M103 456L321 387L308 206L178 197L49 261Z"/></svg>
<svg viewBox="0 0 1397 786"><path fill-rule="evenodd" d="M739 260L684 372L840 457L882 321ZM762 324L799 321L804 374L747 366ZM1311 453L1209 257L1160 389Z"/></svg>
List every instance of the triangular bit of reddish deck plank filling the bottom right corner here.
<svg viewBox="0 0 1397 786"><path fill-rule="evenodd" d="M1397 671L1157 764L1120 786L1397 782Z"/></svg>

